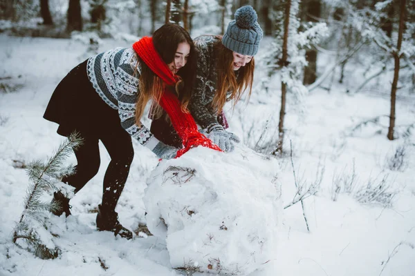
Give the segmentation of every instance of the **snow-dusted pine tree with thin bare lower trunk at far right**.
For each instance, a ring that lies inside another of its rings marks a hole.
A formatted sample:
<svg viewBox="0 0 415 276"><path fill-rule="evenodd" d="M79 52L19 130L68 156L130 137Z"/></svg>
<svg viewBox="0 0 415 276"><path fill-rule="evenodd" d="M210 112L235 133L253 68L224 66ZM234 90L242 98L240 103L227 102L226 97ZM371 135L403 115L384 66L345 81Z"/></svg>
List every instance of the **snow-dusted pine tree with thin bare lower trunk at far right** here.
<svg viewBox="0 0 415 276"><path fill-rule="evenodd" d="M391 10L396 11L394 13L395 20L389 20ZM379 1L374 8L362 8L356 10L355 14L355 18L358 19L356 20L358 21L356 25L360 26L363 39L371 47L376 46L376 51L374 52L377 52L377 54L372 54L372 56L376 62L382 64L384 68L382 71L385 71L391 58L394 61L394 79L391 83L391 108L387 133L387 138L393 140L395 139L395 102L400 72L405 66L409 68L410 74L415 73L415 26L413 22L407 21L415 14L414 3L411 3L411 1L407 3L405 0ZM389 21L391 26L389 26ZM396 23L394 24L394 22ZM389 32L391 32L390 35ZM375 75L375 77L378 77L378 75ZM362 86L367 82L365 81ZM361 89L362 86L358 89Z"/></svg>

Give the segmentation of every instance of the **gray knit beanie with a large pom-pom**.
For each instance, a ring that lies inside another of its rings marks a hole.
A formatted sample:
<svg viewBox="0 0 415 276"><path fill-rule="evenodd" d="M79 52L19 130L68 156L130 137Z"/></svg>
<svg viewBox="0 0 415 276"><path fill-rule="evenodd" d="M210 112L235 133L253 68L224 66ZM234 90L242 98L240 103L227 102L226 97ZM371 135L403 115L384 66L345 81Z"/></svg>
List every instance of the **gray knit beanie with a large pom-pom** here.
<svg viewBox="0 0 415 276"><path fill-rule="evenodd" d="M257 12L251 6L237 9L235 20L230 21L223 34L223 46L241 55L255 55L262 39L262 30L257 20Z"/></svg>

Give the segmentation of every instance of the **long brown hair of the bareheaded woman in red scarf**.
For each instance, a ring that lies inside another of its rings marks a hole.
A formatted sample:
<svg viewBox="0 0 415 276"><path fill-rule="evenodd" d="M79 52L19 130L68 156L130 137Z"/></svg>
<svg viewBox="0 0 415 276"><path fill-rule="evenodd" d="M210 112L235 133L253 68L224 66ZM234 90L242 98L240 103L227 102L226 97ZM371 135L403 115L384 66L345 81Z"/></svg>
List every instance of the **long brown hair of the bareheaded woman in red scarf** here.
<svg viewBox="0 0 415 276"><path fill-rule="evenodd" d="M170 88L176 92L179 101L181 102L181 110L188 112L187 105L190 101L190 95L196 80L196 55L194 52L194 44L190 34L177 24L167 23L153 34L154 48L165 61L166 64L174 61L174 55L179 43L187 42L190 45L190 55L187 58L187 63L183 68L178 71L178 76L181 77L181 81L176 83L176 87ZM140 119L144 113L147 102L152 99L155 103L158 103L163 95L164 83L163 80L158 77L140 57L138 57L138 63L140 63L141 72L138 85L138 98L136 101L136 124L140 126ZM163 108L158 104L153 110L154 117L160 117L163 115Z"/></svg>

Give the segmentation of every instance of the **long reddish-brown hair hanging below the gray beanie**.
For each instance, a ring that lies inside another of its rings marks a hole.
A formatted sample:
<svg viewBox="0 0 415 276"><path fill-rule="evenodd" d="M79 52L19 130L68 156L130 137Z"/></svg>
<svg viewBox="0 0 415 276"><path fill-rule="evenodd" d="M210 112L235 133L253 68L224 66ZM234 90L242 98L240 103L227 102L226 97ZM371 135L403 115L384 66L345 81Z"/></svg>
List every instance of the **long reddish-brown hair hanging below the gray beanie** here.
<svg viewBox="0 0 415 276"><path fill-rule="evenodd" d="M218 114L222 111L226 101L233 101L233 108L241 99L243 92L248 88L248 98L252 92L252 82L254 80L255 60L252 57L246 66L239 68L238 77L233 70L233 52L232 50L223 46L221 36L216 36L219 39L218 43L214 45L215 52L218 53L217 64L217 88L212 101L212 108L217 110ZM227 96L228 91L230 95Z"/></svg>

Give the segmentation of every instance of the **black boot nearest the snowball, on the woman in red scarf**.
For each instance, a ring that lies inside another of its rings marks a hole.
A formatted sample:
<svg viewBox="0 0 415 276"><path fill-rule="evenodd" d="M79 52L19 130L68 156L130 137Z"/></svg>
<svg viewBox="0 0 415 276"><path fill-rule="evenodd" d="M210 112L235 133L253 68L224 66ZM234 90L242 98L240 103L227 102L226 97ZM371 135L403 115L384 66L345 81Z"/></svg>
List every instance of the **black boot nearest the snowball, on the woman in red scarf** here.
<svg viewBox="0 0 415 276"><path fill-rule="evenodd" d="M114 236L120 235L126 239L133 238L133 233L124 228L118 221L118 213L104 210L101 205L98 205L97 228L100 231L111 231Z"/></svg>

